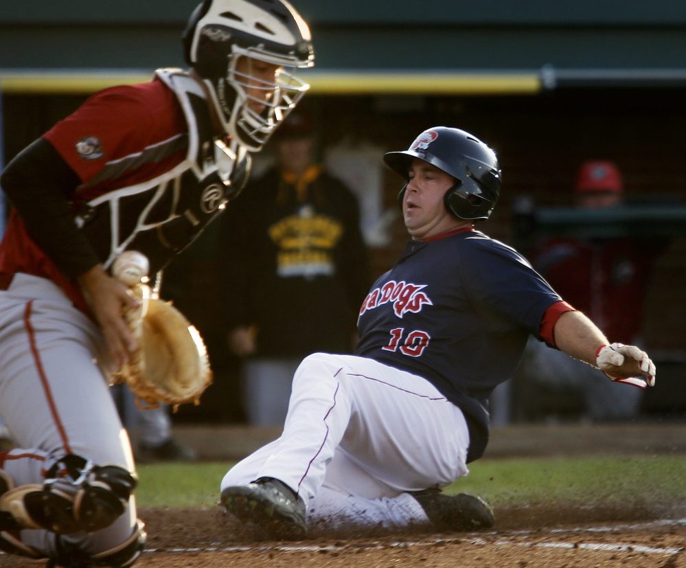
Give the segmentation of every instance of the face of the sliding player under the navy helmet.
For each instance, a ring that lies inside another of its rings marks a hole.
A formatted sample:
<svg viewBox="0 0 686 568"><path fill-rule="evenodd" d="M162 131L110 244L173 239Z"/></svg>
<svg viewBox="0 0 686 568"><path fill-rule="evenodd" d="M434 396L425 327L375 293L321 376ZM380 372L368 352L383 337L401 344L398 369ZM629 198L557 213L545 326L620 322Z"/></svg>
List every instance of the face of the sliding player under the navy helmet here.
<svg viewBox="0 0 686 568"><path fill-rule="evenodd" d="M410 181L402 198L405 227L414 240L424 240L464 224L448 213L443 196L455 179L430 163L412 159Z"/></svg>

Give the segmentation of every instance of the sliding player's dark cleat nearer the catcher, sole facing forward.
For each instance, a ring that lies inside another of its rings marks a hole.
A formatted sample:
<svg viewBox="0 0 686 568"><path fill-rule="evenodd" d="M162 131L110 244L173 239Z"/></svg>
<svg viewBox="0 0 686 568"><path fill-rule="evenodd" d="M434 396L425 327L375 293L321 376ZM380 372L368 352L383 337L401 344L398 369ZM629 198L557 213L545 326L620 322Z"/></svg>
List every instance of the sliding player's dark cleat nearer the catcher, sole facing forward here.
<svg viewBox="0 0 686 568"><path fill-rule="evenodd" d="M305 503L278 479L261 477L222 491L222 505L244 523L264 527L270 536L298 541L307 535Z"/></svg>

